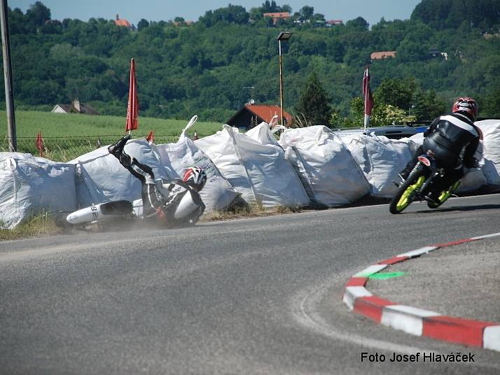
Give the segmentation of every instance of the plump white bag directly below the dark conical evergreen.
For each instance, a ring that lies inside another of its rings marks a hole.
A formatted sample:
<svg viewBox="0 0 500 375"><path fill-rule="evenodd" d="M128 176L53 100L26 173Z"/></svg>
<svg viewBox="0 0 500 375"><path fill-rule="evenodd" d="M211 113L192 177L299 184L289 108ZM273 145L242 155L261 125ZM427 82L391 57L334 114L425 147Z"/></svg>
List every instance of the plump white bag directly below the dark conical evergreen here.
<svg viewBox="0 0 500 375"><path fill-rule="evenodd" d="M369 185L342 140L328 127L286 129L279 138L315 204L339 206L369 192Z"/></svg>

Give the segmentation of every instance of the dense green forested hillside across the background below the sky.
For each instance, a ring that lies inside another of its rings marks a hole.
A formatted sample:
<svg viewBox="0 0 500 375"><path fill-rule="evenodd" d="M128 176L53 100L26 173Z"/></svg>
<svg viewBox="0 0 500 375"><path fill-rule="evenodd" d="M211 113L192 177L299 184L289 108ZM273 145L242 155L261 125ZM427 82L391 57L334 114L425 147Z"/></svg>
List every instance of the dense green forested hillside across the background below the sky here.
<svg viewBox="0 0 500 375"><path fill-rule="evenodd" d="M278 11L292 17L276 24L263 17ZM430 120L458 96L478 99L480 116L500 117L498 0L471 1L466 9L460 0L422 0L410 20L382 18L371 27L362 17L328 24L311 6L293 12L275 1L209 10L193 23L142 19L134 29L103 18L52 20L40 1L26 13L9 9L8 17L21 110L50 111L78 97L102 115L125 115L134 57L141 116L225 122L249 99L279 104L276 36L289 30L284 109L299 118L309 111L313 125L361 126L367 63L375 125ZM377 51L396 57L370 62ZM0 91L4 98L3 83ZM305 108L311 102L321 108Z"/></svg>

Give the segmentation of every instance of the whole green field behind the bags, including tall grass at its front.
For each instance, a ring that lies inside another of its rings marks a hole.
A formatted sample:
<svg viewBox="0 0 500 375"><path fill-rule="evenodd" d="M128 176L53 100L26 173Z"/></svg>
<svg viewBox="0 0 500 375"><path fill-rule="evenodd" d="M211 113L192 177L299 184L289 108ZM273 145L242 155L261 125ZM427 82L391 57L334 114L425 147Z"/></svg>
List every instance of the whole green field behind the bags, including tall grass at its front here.
<svg viewBox="0 0 500 375"><path fill-rule="evenodd" d="M133 138L153 131L155 143L174 143L190 119L162 120L140 118ZM188 136L209 136L222 129L216 122L196 122ZM45 157L55 162L68 162L96 148L114 143L125 134L125 117L62 114L36 111L15 112L15 132L19 153ZM43 147L37 148L36 136L41 132ZM6 111L0 111L0 152L9 150Z"/></svg>

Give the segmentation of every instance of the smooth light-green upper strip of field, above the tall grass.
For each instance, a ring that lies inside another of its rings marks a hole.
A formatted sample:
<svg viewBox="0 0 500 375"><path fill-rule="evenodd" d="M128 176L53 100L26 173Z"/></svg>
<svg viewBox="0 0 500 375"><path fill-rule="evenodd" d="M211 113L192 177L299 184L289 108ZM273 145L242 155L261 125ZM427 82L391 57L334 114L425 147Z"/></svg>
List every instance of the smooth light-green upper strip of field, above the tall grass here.
<svg viewBox="0 0 500 375"><path fill-rule="evenodd" d="M189 122L186 120L163 120L139 117L139 128L134 130L134 138L146 136L151 130L155 136L179 136ZM196 122L188 134L195 131L200 136L214 134L222 129L216 122ZM55 137L120 136L125 133L125 116L92 116L36 111L16 111L15 131L18 138L33 138L41 132L45 139ZM7 135L6 111L0 111L0 136Z"/></svg>

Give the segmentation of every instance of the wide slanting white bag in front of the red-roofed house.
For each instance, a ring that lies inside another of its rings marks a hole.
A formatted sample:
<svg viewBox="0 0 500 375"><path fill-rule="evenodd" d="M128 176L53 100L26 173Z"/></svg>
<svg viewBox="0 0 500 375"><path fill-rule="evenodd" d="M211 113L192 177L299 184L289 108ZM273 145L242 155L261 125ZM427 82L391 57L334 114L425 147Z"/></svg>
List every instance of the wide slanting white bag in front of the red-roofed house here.
<svg viewBox="0 0 500 375"><path fill-rule="evenodd" d="M310 203L281 147L259 143L229 125L195 144L247 202L264 207Z"/></svg>

